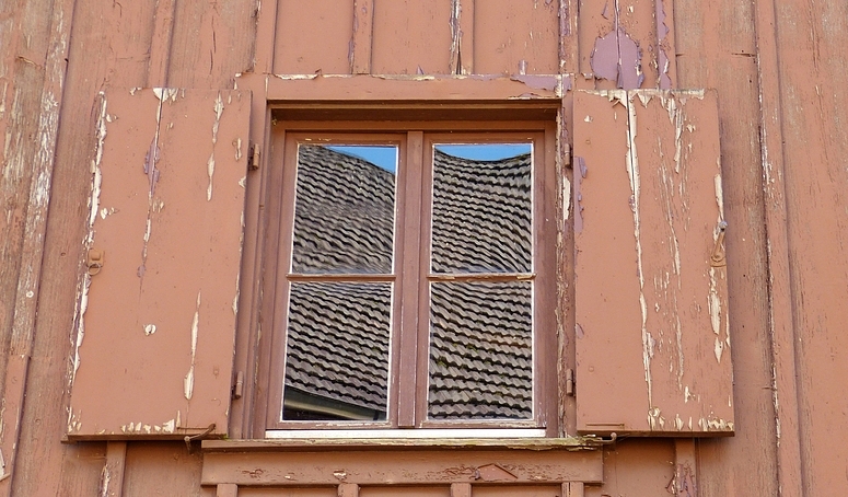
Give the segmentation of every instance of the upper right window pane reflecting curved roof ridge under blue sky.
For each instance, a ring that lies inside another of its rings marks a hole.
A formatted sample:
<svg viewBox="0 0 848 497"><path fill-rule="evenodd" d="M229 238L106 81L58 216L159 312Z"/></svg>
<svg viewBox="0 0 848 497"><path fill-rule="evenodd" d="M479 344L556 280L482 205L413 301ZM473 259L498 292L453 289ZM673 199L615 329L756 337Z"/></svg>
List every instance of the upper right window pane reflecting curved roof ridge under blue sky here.
<svg viewBox="0 0 848 497"><path fill-rule="evenodd" d="M437 145L433 273L532 270L532 146Z"/></svg>

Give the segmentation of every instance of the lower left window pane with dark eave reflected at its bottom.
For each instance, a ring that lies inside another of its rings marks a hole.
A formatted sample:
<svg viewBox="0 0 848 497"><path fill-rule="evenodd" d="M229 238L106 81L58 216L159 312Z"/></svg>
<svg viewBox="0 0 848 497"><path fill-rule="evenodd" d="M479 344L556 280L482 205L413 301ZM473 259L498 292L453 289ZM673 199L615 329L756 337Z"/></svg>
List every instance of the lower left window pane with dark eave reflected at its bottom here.
<svg viewBox="0 0 848 497"><path fill-rule="evenodd" d="M283 420L382 420L392 284L292 282Z"/></svg>

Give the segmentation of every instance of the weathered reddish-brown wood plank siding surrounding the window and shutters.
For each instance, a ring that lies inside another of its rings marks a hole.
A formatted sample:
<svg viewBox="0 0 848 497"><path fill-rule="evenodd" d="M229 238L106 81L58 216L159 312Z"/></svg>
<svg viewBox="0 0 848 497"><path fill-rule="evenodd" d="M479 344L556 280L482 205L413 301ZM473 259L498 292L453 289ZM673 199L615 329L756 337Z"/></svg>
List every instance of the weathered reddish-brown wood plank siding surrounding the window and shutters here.
<svg viewBox="0 0 848 497"><path fill-rule="evenodd" d="M590 90L717 89L735 437L620 441L604 449L604 485L588 485L585 495L687 495L696 485L701 496L848 494L848 439L839 429L848 411L846 19L848 7L827 0L0 2L0 495L101 487L117 495L116 486L124 495L214 495L200 486L202 456L183 442L60 440L95 95L231 89L236 73L254 68L568 73L574 88ZM568 233L561 243L572 253ZM564 262L569 275L571 259ZM569 330L573 288L562 297ZM561 347L573 367L571 335ZM219 495L235 495L226 494L232 488ZM403 492L504 495L462 484ZM577 496L583 488L522 492Z"/></svg>

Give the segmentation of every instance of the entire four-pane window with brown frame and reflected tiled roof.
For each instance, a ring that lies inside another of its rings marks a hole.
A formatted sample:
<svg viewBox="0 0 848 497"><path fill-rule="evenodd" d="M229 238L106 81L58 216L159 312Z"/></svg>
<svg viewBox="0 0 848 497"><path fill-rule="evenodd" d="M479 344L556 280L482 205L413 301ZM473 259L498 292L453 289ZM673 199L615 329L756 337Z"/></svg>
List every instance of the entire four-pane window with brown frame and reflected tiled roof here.
<svg viewBox="0 0 848 497"><path fill-rule="evenodd" d="M545 125L277 127L268 435L556 434Z"/></svg>

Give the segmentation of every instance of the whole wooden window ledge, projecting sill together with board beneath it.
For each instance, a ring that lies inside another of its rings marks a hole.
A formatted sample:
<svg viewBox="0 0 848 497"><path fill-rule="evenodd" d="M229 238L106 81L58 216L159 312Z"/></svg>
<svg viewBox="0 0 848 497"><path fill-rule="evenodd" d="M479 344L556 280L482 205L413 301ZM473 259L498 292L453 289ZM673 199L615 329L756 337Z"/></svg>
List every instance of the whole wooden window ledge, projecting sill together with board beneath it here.
<svg viewBox="0 0 848 497"><path fill-rule="evenodd" d="M204 440L202 449L204 485L560 485L603 478L603 451L578 438Z"/></svg>

